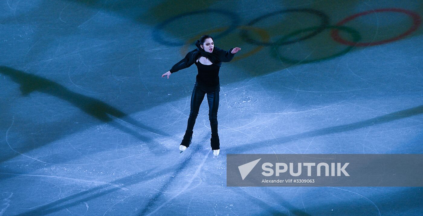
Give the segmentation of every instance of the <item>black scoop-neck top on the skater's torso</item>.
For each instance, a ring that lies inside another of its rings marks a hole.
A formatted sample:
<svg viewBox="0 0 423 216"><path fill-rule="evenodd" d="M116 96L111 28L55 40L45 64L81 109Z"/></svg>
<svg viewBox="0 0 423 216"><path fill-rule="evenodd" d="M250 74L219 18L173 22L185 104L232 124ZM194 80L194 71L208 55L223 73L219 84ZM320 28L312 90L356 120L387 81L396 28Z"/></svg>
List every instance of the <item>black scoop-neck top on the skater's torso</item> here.
<svg viewBox="0 0 423 216"><path fill-rule="evenodd" d="M205 92L218 92L220 91L219 83L219 69L220 67L211 64L203 65L200 60L195 62L198 68L195 86L200 87Z"/></svg>

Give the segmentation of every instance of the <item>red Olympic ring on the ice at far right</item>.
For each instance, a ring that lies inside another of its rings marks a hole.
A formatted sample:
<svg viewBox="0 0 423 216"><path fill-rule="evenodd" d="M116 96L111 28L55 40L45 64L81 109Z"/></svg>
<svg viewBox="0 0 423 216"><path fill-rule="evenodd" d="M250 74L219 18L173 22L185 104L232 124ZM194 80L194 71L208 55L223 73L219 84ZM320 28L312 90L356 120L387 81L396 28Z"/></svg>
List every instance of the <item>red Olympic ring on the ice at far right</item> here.
<svg viewBox="0 0 423 216"><path fill-rule="evenodd" d="M409 11L409 10L400 9L400 8L384 8L384 9L364 11L364 12L357 13L357 14L354 14L352 16L349 16L349 17L341 20L341 22L338 22L335 25L341 26L341 25L345 24L346 22L349 22L352 19L355 19L359 16L364 16L364 15L367 15L369 13L385 12L385 11L399 12L399 13L407 14L413 20L413 26L409 30L402 33L401 35L396 36L395 38L390 38L390 39L383 40L383 41L369 42L369 43L354 43L352 41L346 41L343 38L341 38L341 36L339 36L338 30L332 30L330 36L332 36L333 40L335 40L336 42L342 43L342 44L348 45L348 46L375 46L375 45L380 45L380 44L383 44L383 43L389 43L389 42L392 42L392 41L397 41L401 38L404 38L405 36L411 34L411 32L414 32L415 30L417 30L417 28L420 26L421 17L417 13L415 13L413 11Z"/></svg>

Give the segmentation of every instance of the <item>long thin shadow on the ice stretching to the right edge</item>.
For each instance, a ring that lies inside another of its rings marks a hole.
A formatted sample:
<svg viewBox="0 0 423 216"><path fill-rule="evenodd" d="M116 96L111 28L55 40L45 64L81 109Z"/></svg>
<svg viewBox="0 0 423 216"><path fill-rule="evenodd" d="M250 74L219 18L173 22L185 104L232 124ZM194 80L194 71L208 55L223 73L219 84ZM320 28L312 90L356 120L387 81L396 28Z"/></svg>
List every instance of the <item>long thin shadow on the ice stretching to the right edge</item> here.
<svg viewBox="0 0 423 216"><path fill-rule="evenodd" d="M322 136L322 135L328 135L333 133L340 133L340 132L346 132L346 131L352 131L357 130L364 127L371 127L377 124L383 124L390 121L395 121L399 119L408 118L411 116L417 116L423 113L423 105L419 105L413 108L393 112L393 113L387 113L382 116L374 117L371 119L367 119L364 121L358 121L351 124L342 124L338 126L332 126L332 127L325 127L318 130L303 132L299 134L289 135L285 137L279 137L275 138L276 142L268 143L269 146L275 146L281 143L288 143L293 140L300 140L304 138L311 138L315 136ZM254 149L263 148L267 145L263 145L263 143L252 143L248 144L249 146L254 146ZM240 152L247 151L249 148L245 145L236 146L233 148L230 148L231 153L230 154L239 154Z"/></svg>

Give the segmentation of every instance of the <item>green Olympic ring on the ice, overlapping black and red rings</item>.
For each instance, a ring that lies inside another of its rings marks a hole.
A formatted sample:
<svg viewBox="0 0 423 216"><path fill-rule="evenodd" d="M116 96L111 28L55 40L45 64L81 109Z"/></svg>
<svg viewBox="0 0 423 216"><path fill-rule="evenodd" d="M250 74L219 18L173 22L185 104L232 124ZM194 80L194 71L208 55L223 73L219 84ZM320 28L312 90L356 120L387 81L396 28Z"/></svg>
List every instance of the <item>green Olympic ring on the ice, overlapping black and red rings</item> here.
<svg viewBox="0 0 423 216"><path fill-rule="evenodd" d="M284 42L284 41L286 41L288 38L291 38L291 37L292 37L292 36L294 36L294 35L297 35L297 34L299 34L299 33L306 32L306 31L316 30L316 29L318 29L318 28L321 28L321 27L310 27L310 28L306 28L306 29L302 29L302 30L298 30L298 31L292 32L291 34L288 34L288 35L286 35L285 37L280 38L280 39L279 39L279 40L275 43L275 45L276 45L276 47L278 47L280 44L283 44L283 42ZM349 28L349 27L345 27L345 26L326 26L326 27L325 27L325 29L338 29L338 30L344 30L344 31L346 31L346 32L348 32L348 33L350 33L350 34L352 35L353 41L354 41L355 43L357 43L358 41L360 41L360 40L361 40L360 33L358 33L358 31L357 31L357 30L354 30L354 29ZM341 56L341 55L343 55L343 54L346 54L346 53L348 53L348 52L349 52L352 48L354 48L354 46L348 46L348 47L347 47L346 49L344 49L343 51L338 52L338 53L336 53L336 54L333 54L333 55L332 55L332 56L330 56L330 57L324 57L324 58L320 58L320 59L313 59L313 60L295 60L295 59L288 59L288 58L285 58L285 57L281 57L281 56L279 55L279 53L277 52L276 47L274 47L273 49L271 49L271 52L272 52L273 56L274 56L274 57L276 57L276 58L279 58L279 59L280 59L281 61L283 61L283 62L288 62L288 63L293 63L293 64L298 64L298 63L310 63L310 62L317 62L317 61L321 61L321 60L331 59L331 58L338 57L338 56Z"/></svg>

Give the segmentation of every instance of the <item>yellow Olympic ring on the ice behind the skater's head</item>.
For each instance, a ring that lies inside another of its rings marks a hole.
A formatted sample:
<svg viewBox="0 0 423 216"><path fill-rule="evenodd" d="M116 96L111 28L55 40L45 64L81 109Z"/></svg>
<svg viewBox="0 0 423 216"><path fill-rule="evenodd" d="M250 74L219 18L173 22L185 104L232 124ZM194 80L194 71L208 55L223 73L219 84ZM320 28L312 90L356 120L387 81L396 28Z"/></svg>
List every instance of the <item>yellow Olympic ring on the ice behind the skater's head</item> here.
<svg viewBox="0 0 423 216"><path fill-rule="evenodd" d="M258 28L258 27L251 27L251 26L238 26L237 28L255 31L255 32L257 32L258 35L260 35L261 39L263 39L264 41L269 41L270 40L269 33L266 32L264 29L261 29L261 28ZM208 31L208 33L221 32L223 30L225 30L225 28L217 28L215 30ZM190 44L192 44L192 43L195 43L198 40L198 38L200 38L202 35L204 35L204 34L198 34L198 35L195 35L193 38L190 38L187 41L188 43L185 43L185 45L182 46L182 48L181 48L181 55L182 56L185 56L187 54L187 52L188 52L188 46ZM250 56L252 54L255 54L256 52L260 51L261 49L263 49L263 46L258 46L257 48L255 48L255 49L253 49L251 51L248 51L247 53L236 55L232 59L232 61L237 61L239 59L248 57L248 56Z"/></svg>

